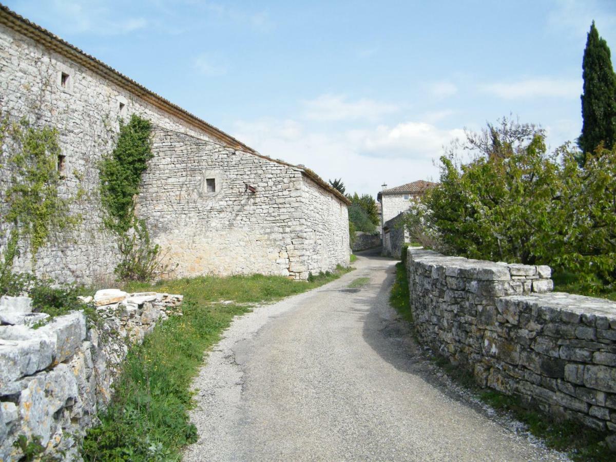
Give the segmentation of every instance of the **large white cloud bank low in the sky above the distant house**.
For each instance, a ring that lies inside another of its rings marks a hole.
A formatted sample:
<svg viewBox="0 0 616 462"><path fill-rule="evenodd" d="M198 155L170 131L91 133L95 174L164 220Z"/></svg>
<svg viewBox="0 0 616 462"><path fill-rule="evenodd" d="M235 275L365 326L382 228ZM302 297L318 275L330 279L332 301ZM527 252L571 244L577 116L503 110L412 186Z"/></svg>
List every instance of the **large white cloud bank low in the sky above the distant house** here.
<svg viewBox="0 0 616 462"><path fill-rule="evenodd" d="M349 192L376 196L381 184L434 180L433 160L442 146L461 136L421 122L364 131L315 131L307 123L264 118L238 121L233 135L262 154L304 164L323 179L342 178Z"/></svg>

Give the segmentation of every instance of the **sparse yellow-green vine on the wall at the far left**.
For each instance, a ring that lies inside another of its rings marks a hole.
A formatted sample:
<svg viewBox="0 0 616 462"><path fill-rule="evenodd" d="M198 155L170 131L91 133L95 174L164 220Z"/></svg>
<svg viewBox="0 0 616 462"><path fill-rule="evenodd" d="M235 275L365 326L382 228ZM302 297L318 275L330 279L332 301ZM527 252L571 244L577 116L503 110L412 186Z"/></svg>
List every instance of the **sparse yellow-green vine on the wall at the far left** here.
<svg viewBox="0 0 616 462"><path fill-rule="evenodd" d="M11 272L19 253L20 239L28 241L33 262L47 244L53 230L74 227L81 216L70 214L76 197L63 198L59 186L63 180L58 170L61 154L58 132L49 126L33 126L26 118L0 122L2 167L9 172L2 200L2 221L10 228L0 264L0 277ZM79 189L78 195L81 193Z"/></svg>

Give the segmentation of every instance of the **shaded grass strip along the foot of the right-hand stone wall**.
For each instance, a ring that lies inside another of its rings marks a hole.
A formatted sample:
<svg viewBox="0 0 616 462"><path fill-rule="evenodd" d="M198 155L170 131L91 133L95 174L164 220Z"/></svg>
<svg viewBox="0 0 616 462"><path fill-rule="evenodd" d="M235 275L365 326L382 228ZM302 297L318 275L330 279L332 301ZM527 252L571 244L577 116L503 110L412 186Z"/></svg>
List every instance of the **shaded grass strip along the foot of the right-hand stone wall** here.
<svg viewBox="0 0 616 462"><path fill-rule="evenodd" d="M403 318L412 323L413 314L409 302L407 271L402 262L395 265L395 270L395 282L391 288L389 303ZM556 285L556 275L554 283ZM526 424L529 431L534 436L543 439L549 448L566 452L574 461L615 460L614 453L610 452L604 443L607 433L593 430L575 421L558 422L548 415L528 410L522 406L518 397L505 395L492 389L481 389L477 386L470 371L453 365L447 358L435 355L432 360L453 382L474 393L496 411L510 413L515 419Z"/></svg>

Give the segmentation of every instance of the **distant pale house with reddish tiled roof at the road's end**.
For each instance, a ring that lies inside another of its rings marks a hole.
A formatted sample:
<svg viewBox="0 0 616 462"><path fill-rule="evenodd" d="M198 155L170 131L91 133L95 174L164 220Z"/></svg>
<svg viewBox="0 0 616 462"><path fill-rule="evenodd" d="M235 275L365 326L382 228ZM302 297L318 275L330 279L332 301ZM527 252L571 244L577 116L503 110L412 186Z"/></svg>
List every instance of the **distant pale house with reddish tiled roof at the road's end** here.
<svg viewBox="0 0 616 462"><path fill-rule="evenodd" d="M402 213L411 206L411 200L420 198L436 183L417 180L394 188L387 188L376 195L381 205L381 229L383 230L383 255L400 257L402 245L410 242L407 230L402 228Z"/></svg>

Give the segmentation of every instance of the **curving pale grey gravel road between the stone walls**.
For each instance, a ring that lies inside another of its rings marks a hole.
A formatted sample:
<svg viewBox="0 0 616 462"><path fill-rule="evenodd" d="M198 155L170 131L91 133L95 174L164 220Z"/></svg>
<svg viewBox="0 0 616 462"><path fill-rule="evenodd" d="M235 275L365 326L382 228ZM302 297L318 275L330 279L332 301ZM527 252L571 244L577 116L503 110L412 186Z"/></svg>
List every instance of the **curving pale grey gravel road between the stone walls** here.
<svg viewBox="0 0 616 462"><path fill-rule="evenodd" d="M233 322L195 380L199 440L184 460L566 460L426 359L387 302L395 261L363 255Z"/></svg>

